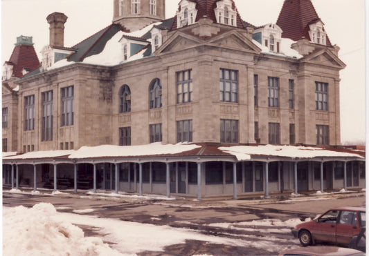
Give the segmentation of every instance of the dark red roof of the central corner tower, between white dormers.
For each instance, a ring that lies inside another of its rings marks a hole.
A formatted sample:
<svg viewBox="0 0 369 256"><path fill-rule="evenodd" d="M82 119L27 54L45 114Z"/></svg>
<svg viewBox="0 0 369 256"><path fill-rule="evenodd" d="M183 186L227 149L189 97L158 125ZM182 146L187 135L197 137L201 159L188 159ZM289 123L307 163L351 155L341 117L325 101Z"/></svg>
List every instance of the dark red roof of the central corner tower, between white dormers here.
<svg viewBox="0 0 369 256"><path fill-rule="evenodd" d="M211 19L214 23L217 23L217 17L215 17L215 11L214 9L217 8L217 1L220 0L188 0L190 2L196 3L196 9L197 9L197 16L195 22L199 21L202 17L208 17ZM235 10L237 13L237 28L245 28L244 22L242 21L240 17L240 13L238 13L238 10L235 6L235 2L232 1L232 10ZM181 6L179 6L179 9L181 9ZM177 29L177 15L174 17L174 22L172 24L171 30Z"/></svg>

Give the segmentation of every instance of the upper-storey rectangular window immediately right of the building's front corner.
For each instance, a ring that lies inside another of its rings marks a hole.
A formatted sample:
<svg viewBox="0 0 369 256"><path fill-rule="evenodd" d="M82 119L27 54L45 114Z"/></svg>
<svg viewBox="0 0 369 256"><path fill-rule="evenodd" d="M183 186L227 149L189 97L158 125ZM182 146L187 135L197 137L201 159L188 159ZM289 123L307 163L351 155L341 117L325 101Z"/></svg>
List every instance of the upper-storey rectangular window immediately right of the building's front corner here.
<svg viewBox="0 0 369 256"><path fill-rule="evenodd" d="M238 71L220 69L219 100L225 102L238 101Z"/></svg>

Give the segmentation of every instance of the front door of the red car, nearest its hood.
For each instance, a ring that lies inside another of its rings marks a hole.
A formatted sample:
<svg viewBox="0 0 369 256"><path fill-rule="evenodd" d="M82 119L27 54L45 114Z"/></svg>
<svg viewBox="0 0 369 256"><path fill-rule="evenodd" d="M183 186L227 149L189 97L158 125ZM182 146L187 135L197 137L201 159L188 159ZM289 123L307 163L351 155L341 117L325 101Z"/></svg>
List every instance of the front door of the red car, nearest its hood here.
<svg viewBox="0 0 369 256"><path fill-rule="evenodd" d="M339 210L329 210L316 219L316 224L312 228L313 238L321 242L335 243L338 217Z"/></svg>

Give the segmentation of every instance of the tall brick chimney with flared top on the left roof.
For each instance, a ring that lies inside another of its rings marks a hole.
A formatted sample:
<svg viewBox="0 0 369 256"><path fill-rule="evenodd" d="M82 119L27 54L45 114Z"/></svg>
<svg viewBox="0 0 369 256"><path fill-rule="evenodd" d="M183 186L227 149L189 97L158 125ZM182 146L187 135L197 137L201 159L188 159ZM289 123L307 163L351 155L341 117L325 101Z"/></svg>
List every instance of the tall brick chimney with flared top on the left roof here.
<svg viewBox="0 0 369 256"><path fill-rule="evenodd" d="M68 17L61 12L53 12L46 18L50 24L50 45L64 47L64 23Z"/></svg>

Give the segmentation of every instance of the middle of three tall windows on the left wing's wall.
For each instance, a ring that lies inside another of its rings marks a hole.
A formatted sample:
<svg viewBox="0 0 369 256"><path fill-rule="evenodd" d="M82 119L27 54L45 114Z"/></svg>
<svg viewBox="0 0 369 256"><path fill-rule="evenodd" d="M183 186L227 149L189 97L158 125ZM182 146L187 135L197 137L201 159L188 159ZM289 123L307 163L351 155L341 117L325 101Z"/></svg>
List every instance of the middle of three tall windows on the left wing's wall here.
<svg viewBox="0 0 369 256"><path fill-rule="evenodd" d="M53 140L53 91L42 92L42 141Z"/></svg>

